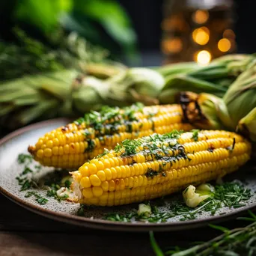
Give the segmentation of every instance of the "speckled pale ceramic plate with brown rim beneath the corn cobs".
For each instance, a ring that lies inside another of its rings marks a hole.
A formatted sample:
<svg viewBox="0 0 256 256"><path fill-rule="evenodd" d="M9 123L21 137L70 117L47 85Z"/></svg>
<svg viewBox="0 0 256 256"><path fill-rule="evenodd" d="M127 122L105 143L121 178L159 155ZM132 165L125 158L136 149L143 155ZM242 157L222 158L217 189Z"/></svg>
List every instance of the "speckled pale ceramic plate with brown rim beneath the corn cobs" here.
<svg viewBox="0 0 256 256"><path fill-rule="evenodd" d="M112 222L104 220L103 217L107 213L124 213L132 211L138 207L138 204L131 204L124 207L94 207L89 208L85 217L77 216L79 204L69 203L66 201L56 201L54 198L49 198L45 205L37 204L33 197L25 198L25 192L19 192L19 185L16 177L22 172L23 166L16 161L19 153L26 153L28 144L34 144L40 135L49 132L56 127L67 124L66 119L55 119L52 121L43 121L38 124L17 130L16 132L7 135L0 141L0 192L10 198L16 204L27 208L28 210L40 215L56 219L61 222L68 222L75 225L82 225L88 228L99 228L105 230L116 231L173 231L188 228L196 228L202 225L207 225L210 222L221 222L225 219L234 218L243 214L246 210L256 208L256 168L254 164L244 166L236 174L228 177L228 180L243 179L246 186L252 189L253 196L247 201L246 206L238 209L222 208L215 216L210 216L210 213L201 214L195 220L180 221L180 218L175 217L168 219L163 223L144 223L144 222ZM51 168L43 168L40 175L43 173L49 174ZM46 195L44 190L39 191L42 195ZM160 207L160 210L168 211L171 202L177 200L175 195L165 198L165 206ZM225 214L223 214L225 213Z"/></svg>

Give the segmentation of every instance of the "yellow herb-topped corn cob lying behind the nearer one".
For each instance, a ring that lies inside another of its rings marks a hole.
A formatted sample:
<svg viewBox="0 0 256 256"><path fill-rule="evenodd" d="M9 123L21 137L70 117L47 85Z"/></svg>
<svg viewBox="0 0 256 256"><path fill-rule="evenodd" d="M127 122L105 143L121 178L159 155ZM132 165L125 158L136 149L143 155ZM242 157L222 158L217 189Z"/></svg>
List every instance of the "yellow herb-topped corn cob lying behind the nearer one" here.
<svg viewBox="0 0 256 256"><path fill-rule="evenodd" d="M179 105L105 107L101 112L91 112L85 118L46 133L28 151L42 165L79 168L86 160L112 149L124 139L141 138L154 132L163 134L173 129L192 129L190 124L182 123Z"/></svg>

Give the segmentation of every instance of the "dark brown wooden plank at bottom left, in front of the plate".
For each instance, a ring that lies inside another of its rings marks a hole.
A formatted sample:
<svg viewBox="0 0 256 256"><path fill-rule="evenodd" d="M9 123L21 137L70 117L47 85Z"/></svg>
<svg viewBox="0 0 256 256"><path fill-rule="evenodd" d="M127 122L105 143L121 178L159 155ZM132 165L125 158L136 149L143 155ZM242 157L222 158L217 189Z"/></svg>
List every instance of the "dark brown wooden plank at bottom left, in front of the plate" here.
<svg viewBox="0 0 256 256"><path fill-rule="evenodd" d="M154 255L147 234L129 237L111 234L0 233L0 255Z"/></svg>

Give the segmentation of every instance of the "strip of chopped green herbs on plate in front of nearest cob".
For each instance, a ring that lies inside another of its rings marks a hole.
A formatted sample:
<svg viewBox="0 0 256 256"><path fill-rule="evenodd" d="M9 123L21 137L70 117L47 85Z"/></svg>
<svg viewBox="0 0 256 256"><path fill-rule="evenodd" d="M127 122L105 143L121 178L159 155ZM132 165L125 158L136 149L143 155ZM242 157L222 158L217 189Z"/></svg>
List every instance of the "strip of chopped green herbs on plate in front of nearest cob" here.
<svg viewBox="0 0 256 256"><path fill-rule="evenodd" d="M168 219L175 216L180 216L180 221L196 219L198 215L208 212L215 215L216 211L222 207L243 207L245 202L252 197L252 192L243 184L238 182L223 183L215 186L213 197L201 202L198 207L191 208L181 201L174 201L168 211L160 211L158 207L152 207L150 216L138 216L137 213L109 213L103 219L112 220L115 222L131 222L132 218L143 222L167 222ZM149 204L149 203L147 203Z"/></svg>

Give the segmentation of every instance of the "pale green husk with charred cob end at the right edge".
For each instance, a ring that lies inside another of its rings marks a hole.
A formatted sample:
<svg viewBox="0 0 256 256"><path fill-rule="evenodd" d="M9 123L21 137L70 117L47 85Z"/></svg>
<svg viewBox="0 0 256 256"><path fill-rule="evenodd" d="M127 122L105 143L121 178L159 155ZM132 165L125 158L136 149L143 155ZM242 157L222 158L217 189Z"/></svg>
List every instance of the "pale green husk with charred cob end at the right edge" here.
<svg viewBox="0 0 256 256"><path fill-rule="evenodd" d="M184 117L201 129L229 129L256 141L256 61L228 88L223 99L211 94L180 94Z"/></svg>

